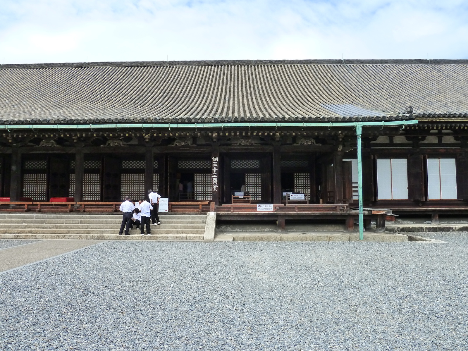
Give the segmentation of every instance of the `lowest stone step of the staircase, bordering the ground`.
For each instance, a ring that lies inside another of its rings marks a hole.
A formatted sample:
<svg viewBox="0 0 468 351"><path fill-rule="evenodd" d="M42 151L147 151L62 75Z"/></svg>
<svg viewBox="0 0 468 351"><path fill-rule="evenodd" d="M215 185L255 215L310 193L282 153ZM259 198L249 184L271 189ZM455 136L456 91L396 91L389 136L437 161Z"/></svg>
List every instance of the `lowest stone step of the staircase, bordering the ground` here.
<svg viewBox="0 0 468 351"><path fill-rule="evenodd" d="M203 241L203 234L0 234L0 239L94 239L94 240L158 240Z"/></svg>

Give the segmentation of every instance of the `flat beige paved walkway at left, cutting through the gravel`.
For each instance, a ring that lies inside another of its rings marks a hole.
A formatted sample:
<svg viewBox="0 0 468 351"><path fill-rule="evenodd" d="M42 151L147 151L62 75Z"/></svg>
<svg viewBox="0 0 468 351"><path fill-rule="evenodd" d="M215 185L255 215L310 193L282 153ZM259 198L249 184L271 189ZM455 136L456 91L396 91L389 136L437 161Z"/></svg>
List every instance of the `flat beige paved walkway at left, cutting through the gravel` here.
<svg viewBox="0 0 468 351"><path fill-rule="evenodd" d="M17 240L15 240L17 241ZM86 248L102 240L42 240L26 241L24 244L0 250L0 272L8 271L26 264L35 263L68 252Z"/></svg>

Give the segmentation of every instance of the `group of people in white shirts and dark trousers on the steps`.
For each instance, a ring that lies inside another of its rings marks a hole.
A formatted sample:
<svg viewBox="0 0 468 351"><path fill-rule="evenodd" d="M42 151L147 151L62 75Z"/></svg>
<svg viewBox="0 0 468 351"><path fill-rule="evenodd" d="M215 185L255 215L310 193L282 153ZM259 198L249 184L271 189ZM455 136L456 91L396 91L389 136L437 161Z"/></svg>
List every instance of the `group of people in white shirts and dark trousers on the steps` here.
<svg viewBox="0 0 468 351"><path fill-rule="evenodd" d="M129 196L125 197L125 201L120 205L120 211L123 213L122 225L120 226L119 235L130 235L129 230L136 226L140 228L141 235L151 235L150 221L154 226L160 225L161 222L158 216L158 204L161 195L153 190L148 190L148 196L143 200L138 200L138 204L133 204Z"/></svg>

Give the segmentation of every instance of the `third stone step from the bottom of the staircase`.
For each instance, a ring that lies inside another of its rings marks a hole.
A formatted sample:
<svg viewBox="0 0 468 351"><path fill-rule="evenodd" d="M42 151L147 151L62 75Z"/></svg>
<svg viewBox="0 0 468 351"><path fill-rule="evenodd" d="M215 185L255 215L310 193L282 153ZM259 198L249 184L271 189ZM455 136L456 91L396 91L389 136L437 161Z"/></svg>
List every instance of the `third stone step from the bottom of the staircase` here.
<svg viewBox="0 0 468 351"><path fill-rule="evenodd" d="M4 229L120 229L121 224L2 224ZM161 224L151 226L155 230L166 229L203 229L205 224Z"/></svg>

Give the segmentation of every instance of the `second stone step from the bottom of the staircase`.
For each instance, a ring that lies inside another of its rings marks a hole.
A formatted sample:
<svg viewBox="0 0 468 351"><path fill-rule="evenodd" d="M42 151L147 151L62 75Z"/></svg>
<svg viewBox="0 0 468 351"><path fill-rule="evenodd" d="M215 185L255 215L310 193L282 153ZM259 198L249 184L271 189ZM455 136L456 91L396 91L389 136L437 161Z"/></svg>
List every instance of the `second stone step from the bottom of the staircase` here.
<svg viewBox="0 0 468 351"><path fill-rule="evenodd" d="M152 226L151 232L154 234L204 234L204 229L169 229ZM131 232L139 233L139 230L132 229ZM118 229L53 229L53 228L0 228L0 234L118 234Z"/></svg>

